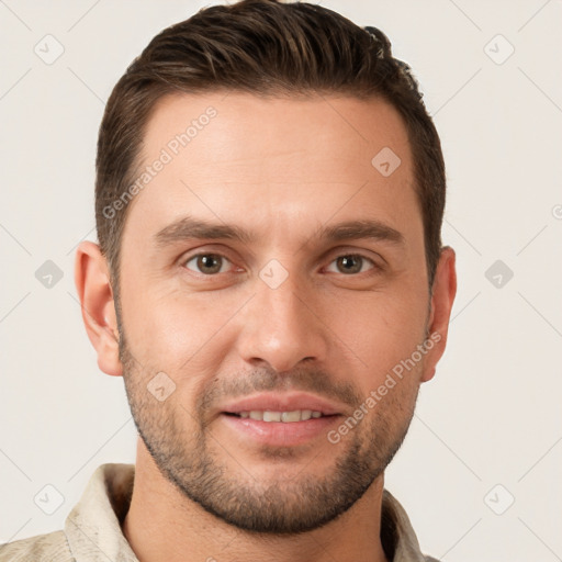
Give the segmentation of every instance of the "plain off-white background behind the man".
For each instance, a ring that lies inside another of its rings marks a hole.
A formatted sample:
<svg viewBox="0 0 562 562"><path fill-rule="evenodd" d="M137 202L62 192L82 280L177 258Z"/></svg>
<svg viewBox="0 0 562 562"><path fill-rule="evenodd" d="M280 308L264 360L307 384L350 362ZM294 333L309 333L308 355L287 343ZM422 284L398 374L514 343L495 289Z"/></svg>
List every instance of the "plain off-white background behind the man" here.
<svg viewBox="0 0 562 562"><path fill-rule="evenodd" d="M134 462L123 381L99 371L81 323L74 251L95 239L112 87L157 32L209 3L0 1L0 542L63 528L99 464ZM448 168L449 347L386 486L442 560L562 560L562 3L322 4L383 30L412 65ZM34 52L45 41L52 56L64 47L50 65ZM35 276L46 260L63 273L52 288ZM52 515L34 503L45 485L64 497Z"/></svg>

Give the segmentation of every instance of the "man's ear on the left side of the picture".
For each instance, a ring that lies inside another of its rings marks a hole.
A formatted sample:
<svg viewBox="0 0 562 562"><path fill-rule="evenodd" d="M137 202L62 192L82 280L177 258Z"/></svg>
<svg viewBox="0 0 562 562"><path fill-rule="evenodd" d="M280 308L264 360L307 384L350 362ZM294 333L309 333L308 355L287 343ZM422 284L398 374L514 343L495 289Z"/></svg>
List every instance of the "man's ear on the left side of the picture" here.
<svg viewBox="0 0 562 562"><path fill-rule="evenodd" d="M108 262L97 244L82 241L78 246L75 283L86 331L98 352L98 366L106 374L121 376L115 303Z"/></svg>

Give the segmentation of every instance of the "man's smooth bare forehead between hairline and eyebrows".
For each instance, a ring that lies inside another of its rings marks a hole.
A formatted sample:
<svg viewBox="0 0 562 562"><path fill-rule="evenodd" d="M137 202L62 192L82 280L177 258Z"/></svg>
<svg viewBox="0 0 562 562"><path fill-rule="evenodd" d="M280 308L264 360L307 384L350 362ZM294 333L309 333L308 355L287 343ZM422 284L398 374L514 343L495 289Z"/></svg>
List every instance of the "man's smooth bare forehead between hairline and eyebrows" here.
<svg viewBox="0 0 562 562"><path fill-rule="evenodd" d="M295 218L317 225L361 211L396 223L405 207L417 211L407 132L380 99L167 95L151 112L139 164L146 181L125 229L156 232L195 214L286 234Z"/></svg>

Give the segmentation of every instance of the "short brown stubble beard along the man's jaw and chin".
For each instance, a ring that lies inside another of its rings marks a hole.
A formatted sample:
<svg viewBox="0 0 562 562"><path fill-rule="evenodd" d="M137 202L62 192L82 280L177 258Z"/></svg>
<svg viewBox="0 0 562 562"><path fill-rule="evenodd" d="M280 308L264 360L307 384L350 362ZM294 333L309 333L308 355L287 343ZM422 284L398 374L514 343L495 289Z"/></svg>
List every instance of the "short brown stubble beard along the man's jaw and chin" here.
<svg viewBox="0 0 562 562"><path fill-rule="evenodd" d="M157 468L186 498L241 530L296 535L317 529L345 514L391 462L414 414L418 387L393 389L393 394L389 393L376 404L338 445L326 439L321 446L327 449L328 458L335 458L323 476L312 474L303 463L303 470L288 480L282 470L276 470L278 463L272 462L268 473L271 476L260 482L252 476L250 461L237 459L238 450L216 441L205 423L204 411L194 408L190 413L172 400L173 395L165 402L155 400L146 387L150 376L146 376L146 369L139 369L123 336L122 333L120 358L128 404ZM252 378L252 387L271 390L278 380L276 373L269 376L266 373L266 378L260 373ZM306 380L312 381L312 374ZM288 376L283 375L283 384L286 381ZM198 403L209 403L211 394L201 396ZM179 423L179 415L183 423ZM316 468L314 457L322 452L310 453L311 467ZM292 454L286 448L261 450L261 458L272 460Z"/></svg>

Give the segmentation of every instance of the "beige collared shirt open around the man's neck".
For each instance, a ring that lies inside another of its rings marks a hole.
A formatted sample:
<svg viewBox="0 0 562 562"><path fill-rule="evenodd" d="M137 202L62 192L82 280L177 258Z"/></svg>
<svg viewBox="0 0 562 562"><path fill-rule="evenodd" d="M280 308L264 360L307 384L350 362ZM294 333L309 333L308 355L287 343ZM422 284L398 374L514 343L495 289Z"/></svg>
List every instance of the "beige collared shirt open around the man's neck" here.
<svg viewBox="0 0 562 562"><path fill-rule="evenodd" d="M134 464L98 467L64 530L0 544L0 562L138 562L121 529L134 476ZM394 546L393 562L435 561L422 554L406 512L386 490L381 540L389 551Z"/></svg>

